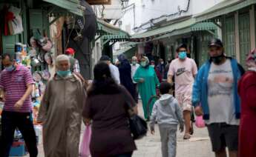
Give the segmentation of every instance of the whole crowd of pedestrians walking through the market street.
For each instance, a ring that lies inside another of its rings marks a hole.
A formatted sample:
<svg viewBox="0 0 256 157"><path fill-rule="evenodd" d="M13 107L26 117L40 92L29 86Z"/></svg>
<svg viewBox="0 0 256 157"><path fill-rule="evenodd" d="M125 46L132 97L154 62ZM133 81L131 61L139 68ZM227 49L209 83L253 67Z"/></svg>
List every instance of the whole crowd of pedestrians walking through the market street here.
<svg viewBox="0 0 256 157"><path fill-rule="evenodd" d="M236 59L226 56L220 39L212 39L208 47L209 60L198 71L186 44L166 64L159 59L156 65L146 56L140 61L134 56L130 63L124 55L112 64L102 56L89 85L79 74L72 49L57 56L56 74L47 83L37 119L43 126L45 156L79 156L83 121L92 128L92 157L131 157L137 146L128 118L130 110L138 113L139 97L152 134L159 125L163 157L176 156L178 126L184 140L191 138L194 113L203 116L215 156L256 156L256 49L246 59L245 73ZM2 64L0 157L9 156L16 128L30 156L37 156L30 70L10 55L2 57Z"/></svg>

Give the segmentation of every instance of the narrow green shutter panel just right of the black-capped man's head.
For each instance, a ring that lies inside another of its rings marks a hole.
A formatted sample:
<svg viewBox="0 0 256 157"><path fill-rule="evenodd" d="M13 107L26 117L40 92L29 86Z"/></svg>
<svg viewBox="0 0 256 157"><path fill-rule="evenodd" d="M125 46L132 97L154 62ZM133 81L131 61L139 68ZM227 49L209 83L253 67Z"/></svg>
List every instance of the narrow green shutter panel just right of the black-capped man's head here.
<svg viewBox="0 0 256 157"><path fill-rule="evenodd" d="M235 53L235 34L234 34L234 16L226 18L225 24L225 52L227 56L236 58Z"/></svg>

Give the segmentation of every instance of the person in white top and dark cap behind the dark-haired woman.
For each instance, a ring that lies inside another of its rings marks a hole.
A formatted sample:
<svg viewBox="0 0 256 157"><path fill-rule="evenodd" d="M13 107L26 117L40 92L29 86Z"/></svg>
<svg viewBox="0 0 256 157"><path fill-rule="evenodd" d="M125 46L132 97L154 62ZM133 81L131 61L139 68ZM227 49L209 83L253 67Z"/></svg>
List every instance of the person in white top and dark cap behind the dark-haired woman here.
<svg viewBox="0 0 256 157"><path fill-rule="evenodd" d="M103 55L99 61L105 61L108 66L109 66L109 69L111 70L111 76L112 78L114 79L114 81L116 82L116 84L120 84L120 76L119 76L119 70L118 70L118 67L114 66L112 63L111 63L111 59L108 57L108 56L105 56Z"/></svg>

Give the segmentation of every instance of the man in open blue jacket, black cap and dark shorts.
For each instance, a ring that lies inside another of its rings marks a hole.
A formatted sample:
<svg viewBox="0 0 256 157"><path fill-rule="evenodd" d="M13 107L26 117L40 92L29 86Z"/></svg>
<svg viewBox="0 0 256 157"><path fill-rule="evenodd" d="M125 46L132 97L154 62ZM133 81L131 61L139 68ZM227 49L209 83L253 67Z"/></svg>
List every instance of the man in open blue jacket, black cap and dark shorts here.
<svg viewBox="0 0 256 157"><path fill-rule="evenodd" d="M244 73L235 59L224 55L220 39L209 42L210 60L200 67L193 85L192 104L203 116L215 156L237 156L240 98L237 81Z"/></svg>

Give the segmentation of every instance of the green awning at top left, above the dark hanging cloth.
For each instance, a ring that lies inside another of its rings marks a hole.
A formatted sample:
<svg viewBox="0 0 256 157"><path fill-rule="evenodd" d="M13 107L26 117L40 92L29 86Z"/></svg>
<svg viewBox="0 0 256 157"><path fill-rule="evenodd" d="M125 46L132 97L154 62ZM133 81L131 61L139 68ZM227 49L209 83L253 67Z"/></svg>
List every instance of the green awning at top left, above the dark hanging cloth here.
<svg viewBox="0 0 256 157"><path fill-rule="evenodd" d="M42 0L50 4L54 4L57 7L68 10L70 13L82 16L83 7L80 5L79 0Z"/></svg>

